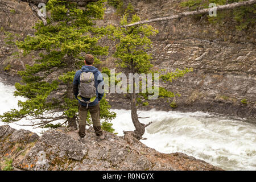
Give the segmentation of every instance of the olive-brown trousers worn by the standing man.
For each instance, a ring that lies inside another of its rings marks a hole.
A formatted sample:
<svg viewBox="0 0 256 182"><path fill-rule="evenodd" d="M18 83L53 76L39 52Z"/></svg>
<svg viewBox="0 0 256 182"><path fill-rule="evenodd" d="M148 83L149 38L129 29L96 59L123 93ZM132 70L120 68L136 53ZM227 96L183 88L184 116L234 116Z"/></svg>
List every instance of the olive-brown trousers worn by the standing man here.
<svg viewBox="0 0 256 182"><path fill-rule="evenodd" d="M82 106L79 104L79 136L85 137L85 125L87 118L87 111L90 111L90 116L92 117L93 129L97 136L102 135L101 122L100 122L100 105L95 106Z"/></svg>

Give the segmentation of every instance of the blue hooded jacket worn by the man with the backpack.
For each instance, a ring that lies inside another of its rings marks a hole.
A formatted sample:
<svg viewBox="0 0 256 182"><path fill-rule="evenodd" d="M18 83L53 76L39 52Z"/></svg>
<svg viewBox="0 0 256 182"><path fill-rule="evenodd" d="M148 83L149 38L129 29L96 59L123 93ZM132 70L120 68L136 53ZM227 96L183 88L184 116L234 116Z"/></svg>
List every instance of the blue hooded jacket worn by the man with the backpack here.
<svg viewBox="0 0 256 182"><path fill-rule="evenodd" d="M82 70L82 71L81 71ZM103 81L103 77L101 75L101 72L98 71L97 68L92 67L92 66L87 66L84 65L81 70L77 71L73 80L73 94L76 97L77 100L79 100L77 98L78 95L78 86L80 84L80 75L82 72L93 72L94 75L94 85L96 87L96 100L94 100L92 103L89 103L88 106L94 106L97 105L98 102L100 102L100 100L102 99L102 97L104 96L104 92L103 93L98 93L98 84L100 84L100 82ZM89 101L89 98L84 98L82 97L82 100L84 101ZM79 104L86 106L87 104L84 102L79 101Z"/></svg>

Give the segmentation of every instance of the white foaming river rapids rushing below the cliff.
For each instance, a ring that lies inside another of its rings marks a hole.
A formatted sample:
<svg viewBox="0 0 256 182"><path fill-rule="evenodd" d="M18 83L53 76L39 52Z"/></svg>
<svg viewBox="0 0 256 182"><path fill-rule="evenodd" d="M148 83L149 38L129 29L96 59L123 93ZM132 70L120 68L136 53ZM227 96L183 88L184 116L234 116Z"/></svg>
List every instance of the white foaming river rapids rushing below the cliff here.
<svg viewBox="0 0 256 182"><path fill-rule="evenodd" d="M14 86L0 81L0 114L18 109L14 97ZM130 111L113 110L117 113L112 123L115 132L134 130ZM181 113L176 111L139 111L141 122L153 123L146 128L142 140L148 147L164 153L183 152L197 159L205 160L226 170L256 170L256 121L222 117L202 112ZM23 119L19 124L30 123ZM0 125L6 125L1 123ZM9 124L15 129L27 129L39 134L42 129ZM40 135L40 134L39 134Z"/></svg>

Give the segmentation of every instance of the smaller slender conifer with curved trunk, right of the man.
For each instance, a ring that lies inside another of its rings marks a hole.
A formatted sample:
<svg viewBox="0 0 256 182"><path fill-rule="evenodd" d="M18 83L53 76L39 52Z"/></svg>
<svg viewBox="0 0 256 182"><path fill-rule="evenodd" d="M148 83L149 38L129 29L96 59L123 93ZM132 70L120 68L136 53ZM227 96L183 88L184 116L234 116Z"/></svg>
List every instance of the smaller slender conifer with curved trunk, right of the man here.
<svg viewBox="0 0 256 182"><path fill-rule="evenodd" d="M147 50L151 47L150 36L154 36L158 33L158 30L149 26L147 24L139 24L137 26L124 27L127 24L132 24L135 22L139 22L140 18L137 15L133 15L130 22L127 21L127 14L125 14L121 20L121 26L117 28L113 28L114 33L113 37L118 40L118 44L116 47L116 51L114 53L114 57L117 58L115 61L115 65L122 73L160 73L154 69L154 65L151 64L152 56L147 53ZM162 81L172 81L177 77L184 76L185 73L191 72L192 69L185 68L184 70L176 69L176 72L172 73L161 73L159 78ZM154 81L154 74L152 75L152 80ZM158 86L158 85L154 85ZM154 86L152 88L154 88ZM139 122L139 117L137 114L137 106L142 104L143 106L148 105L147 100L150 96L152 96L152 92L148 90L146 93L136 93L135 92L135 81L132 81L127 87L127 93L125 96L130 100L131 104L131 119L133 121L133 125L135 127L134 137L137 139L144 139L142 135L145 132L145 127L150 125L148 123L145 125L144 123ZM132 88L132 93L129 92L129 88ZM142 80L139 81L139 88L142 88ZM159 97L175 97L176 95L173 92L170 92L162 87L158 89ZM144 100L144 102L141 102Z"/></svg>

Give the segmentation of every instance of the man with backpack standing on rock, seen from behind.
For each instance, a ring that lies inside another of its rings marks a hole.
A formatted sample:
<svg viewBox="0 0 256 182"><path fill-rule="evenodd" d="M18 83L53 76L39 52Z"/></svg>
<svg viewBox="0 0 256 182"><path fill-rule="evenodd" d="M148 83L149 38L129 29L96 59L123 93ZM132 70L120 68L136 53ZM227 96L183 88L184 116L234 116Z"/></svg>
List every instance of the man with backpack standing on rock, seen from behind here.
<svg viewBox="0 0 256 182"><path fill-rule="evenodd" d="M100 100L104 96L98 92L98 84L103 81L101 72L93 67L93 55L85 55L85 65L76 72L73 80L73 94L79 100L79 140L84 141L87 111L92 117L93 129L100 140L105 139L101 130Z"/></svg>

